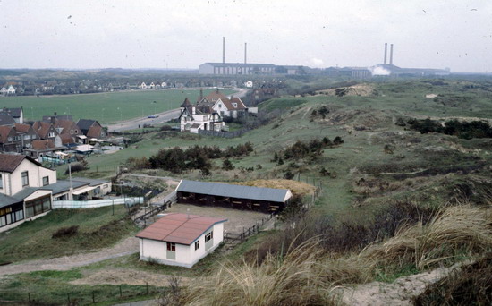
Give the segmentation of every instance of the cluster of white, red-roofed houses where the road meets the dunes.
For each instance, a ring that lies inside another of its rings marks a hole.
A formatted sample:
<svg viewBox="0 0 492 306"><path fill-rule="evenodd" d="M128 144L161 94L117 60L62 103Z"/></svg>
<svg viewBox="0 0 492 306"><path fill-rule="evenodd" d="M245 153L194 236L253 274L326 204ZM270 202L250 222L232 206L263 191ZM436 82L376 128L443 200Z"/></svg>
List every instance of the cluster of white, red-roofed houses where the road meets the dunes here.
<svg viewBox="0 0 492 306"><path fill-rule="evenodd" d="M195 105L188 98L181 105L180 131L198 133L225 130L224 117L240 118L248 115L248 107L241 98L227 98L218 89L203 97L202 91Z"/></svg>

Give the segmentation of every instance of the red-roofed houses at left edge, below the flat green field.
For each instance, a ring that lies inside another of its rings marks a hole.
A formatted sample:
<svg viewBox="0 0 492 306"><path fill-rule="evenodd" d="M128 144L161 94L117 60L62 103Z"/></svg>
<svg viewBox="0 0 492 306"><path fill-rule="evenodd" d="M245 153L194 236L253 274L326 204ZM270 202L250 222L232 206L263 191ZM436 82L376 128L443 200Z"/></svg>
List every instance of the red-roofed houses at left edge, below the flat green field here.
<svg viewBox="0 0 492 306"><path fill-rule="evenodd" d="M45 115L42 120L24 123L22 108L0 110L0 151L39 157L71 144L106 138L100 123L91 119L73 122L72 115Z"/></svg>

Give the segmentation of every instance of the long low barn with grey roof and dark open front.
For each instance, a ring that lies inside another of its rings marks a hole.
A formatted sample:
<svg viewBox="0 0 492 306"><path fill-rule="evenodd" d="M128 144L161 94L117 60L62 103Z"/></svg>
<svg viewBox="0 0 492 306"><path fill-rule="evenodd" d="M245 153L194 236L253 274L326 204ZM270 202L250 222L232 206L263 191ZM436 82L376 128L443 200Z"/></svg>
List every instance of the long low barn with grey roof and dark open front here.
<svg viewBox="0 0 492 306"><path fill-rule="evenodd" d="M250 209L267 213L282 211L293 194L288 189L262 188L182 180L176 188L179 203Z"/></svg>

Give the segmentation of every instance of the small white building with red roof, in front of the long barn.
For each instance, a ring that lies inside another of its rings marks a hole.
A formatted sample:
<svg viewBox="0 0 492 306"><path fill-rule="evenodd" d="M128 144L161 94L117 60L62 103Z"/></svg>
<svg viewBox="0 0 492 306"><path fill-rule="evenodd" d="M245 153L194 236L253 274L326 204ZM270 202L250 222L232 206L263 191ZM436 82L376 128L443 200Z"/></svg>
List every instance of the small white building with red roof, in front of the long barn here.
<svg viewBox="0 0 492 306"><path fill-rule="evenodd" d="M168 214L136 236L140 260L191 268L224 240L227 219Z"/></svg>

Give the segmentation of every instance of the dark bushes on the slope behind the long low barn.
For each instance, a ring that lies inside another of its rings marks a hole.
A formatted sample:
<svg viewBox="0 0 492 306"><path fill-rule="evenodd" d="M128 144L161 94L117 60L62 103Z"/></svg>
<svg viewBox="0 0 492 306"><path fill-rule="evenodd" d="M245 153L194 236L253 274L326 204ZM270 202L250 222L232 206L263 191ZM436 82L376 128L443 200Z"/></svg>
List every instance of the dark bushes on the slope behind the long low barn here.
<svg viewBox="0 0 492 306"><path fill-rule="evenodd" d="M199 169L202 174L208 175L212 166L210 159L247 156L252 151L253 146L250 142L238 144L235 147L229 146L225 149L220 149L217 146L199 145L188 149L174 147L172 149L159 149L155 155L149 158L130 157L126 164L131 169L163 169L174 174L182 173L185 170Z"/></svg>

